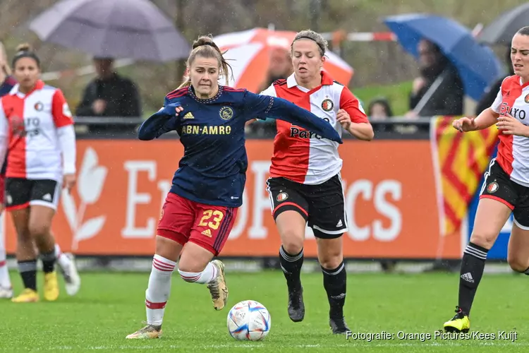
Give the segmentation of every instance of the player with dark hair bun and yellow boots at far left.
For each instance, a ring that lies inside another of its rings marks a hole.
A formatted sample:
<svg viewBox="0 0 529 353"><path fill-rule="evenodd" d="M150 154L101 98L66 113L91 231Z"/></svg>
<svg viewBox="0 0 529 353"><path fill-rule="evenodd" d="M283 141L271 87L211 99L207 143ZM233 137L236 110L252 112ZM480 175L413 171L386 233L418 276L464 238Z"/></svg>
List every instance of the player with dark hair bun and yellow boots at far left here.
<svg viewBox="0 0 529 353"><path fill-rule="evenodd" d="M73 119L61 90L39 79L40 61L28 44L18 47L12 66L18 83L0 99L0 161L8 152L6 210L17 232L18 270L25 288L12 301L39 300L37 249L44 270L44 299L54 301L59 297L55 262L60 250L50 227L61 186L70 190L75 184ZM69 265L75 270L73 261ZM74 272L66 282L68 294L80 285Z"/></svg>

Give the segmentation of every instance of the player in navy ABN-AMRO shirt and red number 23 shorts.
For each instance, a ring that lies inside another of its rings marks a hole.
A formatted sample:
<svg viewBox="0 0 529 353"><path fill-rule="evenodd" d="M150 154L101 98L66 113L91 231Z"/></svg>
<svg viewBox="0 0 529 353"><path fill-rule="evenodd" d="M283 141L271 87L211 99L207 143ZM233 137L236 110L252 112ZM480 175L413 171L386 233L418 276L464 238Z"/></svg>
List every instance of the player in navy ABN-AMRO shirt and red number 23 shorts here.
<svg viewBox="0 0 529 353"><path fill-rule="evenodd" d="M317 138L342 143L327 121L295 104L219 85L219 74L227 81L229 65L209 37L193 43L188 71L188 80L166 95L164 107L138 131L140 140L176 131L184 155L158 224L156 254L145 292L147 325L127 338L161 337L178 256L178 273L183 280L207 284L214 309L226 305L224 264L212 258L228 239L243 203L248 169L244 133L247 121L281 119L310 130Z"/></svg>

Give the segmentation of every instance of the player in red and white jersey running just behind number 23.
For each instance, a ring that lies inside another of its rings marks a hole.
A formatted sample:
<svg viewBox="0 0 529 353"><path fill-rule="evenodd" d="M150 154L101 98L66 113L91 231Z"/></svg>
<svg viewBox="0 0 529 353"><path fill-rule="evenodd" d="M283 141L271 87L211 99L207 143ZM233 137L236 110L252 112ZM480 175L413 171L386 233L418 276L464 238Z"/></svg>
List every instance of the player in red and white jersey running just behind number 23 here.
<svg viewBox="0 0 529 353"><path fill-rule="evenodd" d="M277 80L261 94L281 97L328 121L340 134L372 140L373 128L358 99L345 86L322 71L327 41L312 30L298 32L291 44L294 72ZM354 153L354 150L348 151ZM333 333L348 327L343 318L346 268L342 235L347 232L338 144L320 139L285 121L277 121L274 155L267 190L272 215L281 237L279 261L288 287L288 316L303 321L303 241L308 222L317 241L318 261L329 300L329 325Z"/></svg>

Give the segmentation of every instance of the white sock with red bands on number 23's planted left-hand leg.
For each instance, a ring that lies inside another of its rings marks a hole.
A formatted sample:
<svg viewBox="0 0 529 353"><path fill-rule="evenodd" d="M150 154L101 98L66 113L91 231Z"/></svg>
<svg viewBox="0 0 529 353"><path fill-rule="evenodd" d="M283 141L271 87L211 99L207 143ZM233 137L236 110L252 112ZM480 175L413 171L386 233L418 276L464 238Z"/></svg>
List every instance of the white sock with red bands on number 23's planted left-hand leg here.
<svg viewBox="0 0 529 353"><path fill-rule="evenodd" d="M154 255L149 285L145 291L145 306L147 307L147 323L162 325L164 311L169 294L171 293L171 275L176 263L174 261Z"/></svg>

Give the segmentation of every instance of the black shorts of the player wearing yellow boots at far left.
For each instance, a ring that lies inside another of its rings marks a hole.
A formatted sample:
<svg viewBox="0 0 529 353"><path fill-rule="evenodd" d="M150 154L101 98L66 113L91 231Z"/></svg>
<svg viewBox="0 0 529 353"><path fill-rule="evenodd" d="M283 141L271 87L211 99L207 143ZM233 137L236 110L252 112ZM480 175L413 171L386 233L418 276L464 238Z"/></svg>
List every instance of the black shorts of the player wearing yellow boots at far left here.
<svg viewBox="0 0 529 353"><path fill-rule="evenodd" d="M6 210L20 210L30 205L57 209L62 184L51 179L6 178Z"/></svg>

